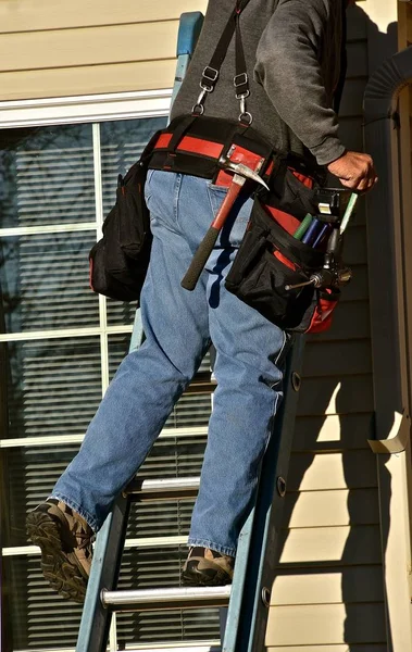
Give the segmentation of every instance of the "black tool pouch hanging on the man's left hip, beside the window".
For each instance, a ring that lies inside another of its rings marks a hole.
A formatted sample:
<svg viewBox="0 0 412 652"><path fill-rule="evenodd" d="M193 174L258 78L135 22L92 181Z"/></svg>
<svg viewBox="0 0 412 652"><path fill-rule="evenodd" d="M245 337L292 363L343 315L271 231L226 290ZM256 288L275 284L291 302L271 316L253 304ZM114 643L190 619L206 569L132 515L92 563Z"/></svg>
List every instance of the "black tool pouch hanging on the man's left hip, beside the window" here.
<svg viewBox="0 0 412 652"><path fill-rule="evenodd" d="M116 203L89 253L91 289L118 301L139 300L149 265L152 235L143 189L154 138L126 176L118 176Z"/></svg>

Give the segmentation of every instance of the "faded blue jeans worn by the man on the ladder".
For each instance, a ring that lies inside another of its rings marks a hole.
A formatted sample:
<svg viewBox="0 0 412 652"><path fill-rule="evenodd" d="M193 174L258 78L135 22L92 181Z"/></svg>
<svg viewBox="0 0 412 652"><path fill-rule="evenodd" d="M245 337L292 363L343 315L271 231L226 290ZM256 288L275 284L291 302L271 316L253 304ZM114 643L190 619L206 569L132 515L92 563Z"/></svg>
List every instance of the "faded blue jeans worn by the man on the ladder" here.
<svg viewBox="0 0 412 652"><path fill-rule="evenodd" d="M153 231L141 294L146 340L120 365L52 496L98 530L213 342L217 388L189 544L234 556L282 398L287 337L224 287L252 201L238 201L189 292L180 280L226 190L150 171L145 191Z"/></svg>

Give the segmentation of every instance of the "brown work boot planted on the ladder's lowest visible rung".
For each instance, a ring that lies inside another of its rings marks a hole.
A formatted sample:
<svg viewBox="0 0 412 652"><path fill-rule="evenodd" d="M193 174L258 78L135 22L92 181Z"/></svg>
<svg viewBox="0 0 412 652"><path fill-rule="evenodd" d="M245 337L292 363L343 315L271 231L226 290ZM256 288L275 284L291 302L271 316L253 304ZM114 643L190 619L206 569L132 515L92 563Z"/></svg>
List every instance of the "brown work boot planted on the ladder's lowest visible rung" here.
<svg viewBox="0 0 412 652"><path fill-rule="evenodd" d="M232 584L235 557L210 548L190 548L182 572L185 585L224 587Z"/></svg>

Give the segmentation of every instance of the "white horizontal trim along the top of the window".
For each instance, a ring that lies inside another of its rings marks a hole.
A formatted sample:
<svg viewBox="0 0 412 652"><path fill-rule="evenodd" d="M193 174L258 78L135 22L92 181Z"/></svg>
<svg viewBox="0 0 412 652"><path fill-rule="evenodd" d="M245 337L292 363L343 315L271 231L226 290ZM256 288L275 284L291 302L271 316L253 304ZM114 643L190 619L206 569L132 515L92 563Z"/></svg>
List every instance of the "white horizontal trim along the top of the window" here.
<svg viewBox="0 0 412 652"><path fill-rule="evenodd" d="M167 115L172 88L0 102L0 128Z"/></svg>

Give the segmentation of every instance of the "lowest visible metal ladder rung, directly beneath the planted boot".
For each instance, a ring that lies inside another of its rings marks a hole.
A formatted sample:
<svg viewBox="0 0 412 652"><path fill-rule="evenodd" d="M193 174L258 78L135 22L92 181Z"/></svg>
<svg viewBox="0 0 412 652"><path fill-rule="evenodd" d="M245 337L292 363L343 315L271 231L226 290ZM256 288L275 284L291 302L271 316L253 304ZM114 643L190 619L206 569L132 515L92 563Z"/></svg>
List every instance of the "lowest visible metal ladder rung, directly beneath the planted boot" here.
<svg viewBox="0 0 412 652"><path fill-rule="evenodd" d="M232 586L204 588L150 589L147 591L101 591L103 606L116 612L167 611L227 606Z"/></svg>

